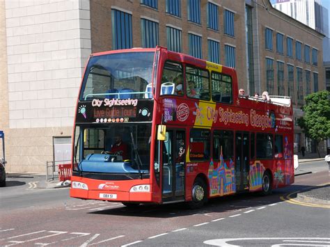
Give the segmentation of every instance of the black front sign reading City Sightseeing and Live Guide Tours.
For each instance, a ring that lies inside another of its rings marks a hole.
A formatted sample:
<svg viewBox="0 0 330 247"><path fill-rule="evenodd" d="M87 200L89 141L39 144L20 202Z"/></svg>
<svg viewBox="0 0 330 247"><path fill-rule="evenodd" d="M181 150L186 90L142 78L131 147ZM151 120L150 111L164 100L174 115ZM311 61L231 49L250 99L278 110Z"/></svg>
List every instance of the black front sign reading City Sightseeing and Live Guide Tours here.
<svg viewBox="0 0 330 247"><path fill-rule="evenodd" d="M148 99L92 99L78 102L77 122L150 122L152 107Z"/></svg>

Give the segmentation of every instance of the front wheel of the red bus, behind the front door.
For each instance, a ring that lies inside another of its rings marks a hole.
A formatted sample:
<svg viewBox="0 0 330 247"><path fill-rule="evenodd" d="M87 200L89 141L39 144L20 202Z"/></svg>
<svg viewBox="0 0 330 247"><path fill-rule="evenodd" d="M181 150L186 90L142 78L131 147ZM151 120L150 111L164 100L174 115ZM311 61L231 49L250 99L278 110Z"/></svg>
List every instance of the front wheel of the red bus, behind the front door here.
<svg viewBox="0 0 330 247"><path fill-rule="evenodd" d="M192 200L189 202L191 209L203 207L207 202L207 186L201 177L197 177L191 191Z"/></svg>

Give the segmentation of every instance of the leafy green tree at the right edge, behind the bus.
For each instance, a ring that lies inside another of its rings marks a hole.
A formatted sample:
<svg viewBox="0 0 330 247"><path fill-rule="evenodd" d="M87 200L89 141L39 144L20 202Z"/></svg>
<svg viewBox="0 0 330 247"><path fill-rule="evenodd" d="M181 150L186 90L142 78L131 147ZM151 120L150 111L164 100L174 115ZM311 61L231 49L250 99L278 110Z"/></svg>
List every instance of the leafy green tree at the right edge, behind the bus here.
<svg viewBox="0 0 330 247"><path fill-rule="evenodd" d="M318 144L330 138L330 92L327 90L312 93L305 97L302 107L304 116L298 119L298 125L306 136L317 143L317 154L320 156Z"/></svg>

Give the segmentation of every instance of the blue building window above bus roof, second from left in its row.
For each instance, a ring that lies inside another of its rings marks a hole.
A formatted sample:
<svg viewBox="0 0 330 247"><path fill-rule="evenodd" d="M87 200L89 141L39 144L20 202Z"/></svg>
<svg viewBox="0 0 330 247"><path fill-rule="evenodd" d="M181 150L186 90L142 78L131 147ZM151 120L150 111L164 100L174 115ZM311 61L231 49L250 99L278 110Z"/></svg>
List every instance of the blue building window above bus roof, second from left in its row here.
<svg viewBox="0 0 330 247"><path fill-rule="evenodd" d="M159 44L158 23L141 19L141 38L144 48L153 48Z"/></svg>

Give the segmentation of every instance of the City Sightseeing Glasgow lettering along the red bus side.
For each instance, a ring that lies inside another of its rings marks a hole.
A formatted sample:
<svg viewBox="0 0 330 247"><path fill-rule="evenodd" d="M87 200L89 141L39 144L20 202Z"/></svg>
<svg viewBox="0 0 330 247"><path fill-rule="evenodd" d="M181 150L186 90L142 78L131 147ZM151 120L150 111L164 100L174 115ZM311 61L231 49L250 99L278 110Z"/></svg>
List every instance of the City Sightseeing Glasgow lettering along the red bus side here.
<svg viewBox="0 0 330 247"><path fill-rule="evenodd" d="M214 123L219 120L219 122L223 122L225 125L228 125L228 123L245 125L246 127L251 125L252 127L260 127L262 130L272 128L272 118L268 115L260 115L253 109L248 114L243 111L235 112L232 109L225 110L221 107L217 111L208 106L207 120L213 120Z"/></svg>

